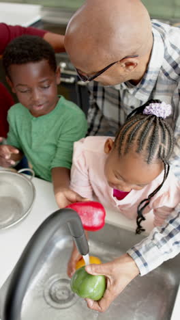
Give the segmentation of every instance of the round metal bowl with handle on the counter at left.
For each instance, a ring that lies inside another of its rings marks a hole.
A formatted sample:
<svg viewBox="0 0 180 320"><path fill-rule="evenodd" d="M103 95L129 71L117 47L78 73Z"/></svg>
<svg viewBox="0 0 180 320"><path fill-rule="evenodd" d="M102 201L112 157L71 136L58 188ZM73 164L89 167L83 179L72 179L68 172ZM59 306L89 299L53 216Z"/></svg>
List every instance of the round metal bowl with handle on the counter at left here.
<svg viewBox="0 0 180 320"><path fill-rule="evenodd" d="M18 172L0 170L0 229L9 228L20 222L31 211L35 200L35 187L30 176Z"/></svg>

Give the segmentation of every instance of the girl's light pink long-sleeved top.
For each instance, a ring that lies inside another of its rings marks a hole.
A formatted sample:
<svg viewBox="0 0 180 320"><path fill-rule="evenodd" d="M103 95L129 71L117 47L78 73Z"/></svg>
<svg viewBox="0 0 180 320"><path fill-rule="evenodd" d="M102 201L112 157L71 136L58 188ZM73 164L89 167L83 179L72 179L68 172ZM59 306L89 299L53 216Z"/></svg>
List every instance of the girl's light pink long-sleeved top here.
<svg viewBox="0 0 180 320"><path fill-rule="evenodd" d="M113 196L104 176L104 143L108 137L86 137L74 143L74 155L71 170L70 187L85 198L97 200L106 208L116 209L130 219L137 216L137 206L162 183L164 172L141 190L132 190L125 198L118 200ZM111 137L112 138L112 137ZM153 196L143 211L149 213L153 209L155 225L160 225L180 202L180 185L170 170L168 178L160 191Z"/></svg>

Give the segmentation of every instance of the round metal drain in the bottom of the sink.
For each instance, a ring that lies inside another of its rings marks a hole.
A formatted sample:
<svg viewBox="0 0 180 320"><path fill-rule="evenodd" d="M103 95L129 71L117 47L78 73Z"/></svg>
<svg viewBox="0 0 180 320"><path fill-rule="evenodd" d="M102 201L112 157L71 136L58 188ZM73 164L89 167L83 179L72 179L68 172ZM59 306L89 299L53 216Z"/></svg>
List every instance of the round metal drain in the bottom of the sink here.
<svg viewBox="0 0 180 320"><path fill-rule="evenodd" d="M72 292L70 280L55 274L45 284L44 298L53 308L65 309L75 304L78 296Z"/></svg>

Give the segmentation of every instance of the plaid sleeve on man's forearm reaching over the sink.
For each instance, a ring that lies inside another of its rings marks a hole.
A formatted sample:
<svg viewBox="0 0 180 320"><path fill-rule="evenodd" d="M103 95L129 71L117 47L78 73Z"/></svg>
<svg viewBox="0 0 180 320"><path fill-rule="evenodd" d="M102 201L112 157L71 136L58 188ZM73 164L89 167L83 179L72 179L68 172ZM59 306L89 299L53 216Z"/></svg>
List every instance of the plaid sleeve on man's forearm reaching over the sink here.
<svg viewBox="0 0 180 320"><path fill-rule="evenodd" d="M127 251L134 259L140 276L157 268L180 252L180 205L170 215L166 224L154 228L149 237Z"/></svg>

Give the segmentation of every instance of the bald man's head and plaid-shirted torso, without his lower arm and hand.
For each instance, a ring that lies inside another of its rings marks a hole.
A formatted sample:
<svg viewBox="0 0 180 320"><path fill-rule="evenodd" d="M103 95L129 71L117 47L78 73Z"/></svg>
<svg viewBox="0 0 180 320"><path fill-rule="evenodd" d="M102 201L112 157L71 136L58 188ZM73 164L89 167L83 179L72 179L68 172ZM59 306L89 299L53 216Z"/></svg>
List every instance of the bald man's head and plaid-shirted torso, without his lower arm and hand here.
<svg viewBox="0 0 180 320"><path fill-rule="evenodd" d="M87 0L64 43L79 77L89 81L89 135L115 135L150 98L172 105L171 163L180 178L180 29L151 22L139 0Z"/></svg>

